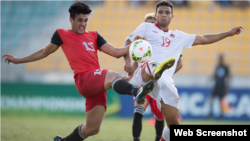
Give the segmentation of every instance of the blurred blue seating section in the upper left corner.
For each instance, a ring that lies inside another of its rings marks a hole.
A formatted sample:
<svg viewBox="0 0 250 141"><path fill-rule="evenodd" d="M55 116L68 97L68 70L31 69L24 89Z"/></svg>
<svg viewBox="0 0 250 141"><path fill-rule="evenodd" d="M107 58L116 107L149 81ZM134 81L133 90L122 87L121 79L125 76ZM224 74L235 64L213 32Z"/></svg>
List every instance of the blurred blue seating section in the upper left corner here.
<svg viewBox="0 0 250 141"><path fill-rule="evenodd" d="M16 48L30 37L32 28L41 28L49 17L55 16L61 6L60 0L3 0L0 2L1 48ZM2 17L3 16L3 17ZM18 39L18 40L13 40Z"/></svg>

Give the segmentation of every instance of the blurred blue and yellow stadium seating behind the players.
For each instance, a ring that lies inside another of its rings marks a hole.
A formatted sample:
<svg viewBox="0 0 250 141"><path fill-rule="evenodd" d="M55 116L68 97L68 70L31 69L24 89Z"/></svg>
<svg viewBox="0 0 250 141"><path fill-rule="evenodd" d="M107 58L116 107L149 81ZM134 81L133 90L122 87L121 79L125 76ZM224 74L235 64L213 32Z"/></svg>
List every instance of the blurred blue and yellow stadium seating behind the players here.
<svg viewBox="0 0 250 141"><path fill-rule="evenodd" d="M23 44L24 40L37 34L27 29L43 29L48 26L46 24L47 19L60 15L62 8L65 8L64 10L67 12L67 8L72 2L74 1L1 1L0 12L3 17L0 20L0 51L6 52ZM99 2L101 2L100 5L92 8L93 13L90 15L87 30L98 31L109 43L116 47L123 46L125 38L144 21L146 13L155 12L155 3L151 0L139 7L132 7L128 0L104 0ZM189 34L218 33L228 31L238 25L244 27L240 36L227 38L212 45L195 46L193 49L184 50L184 67L179 74L211 74L219 53L225 54L227 63L232 65L231 70L234 76L248 76L250 74L248 63L250 62L250 19L247 18L250 17L249 8L221 8L218 6L211 10L208 1L202 3L193 0L190 7L175 7L174 15L170 30L181 30ZM68 16L65 15L67 19ZM55 29L51 29L49 37L52 36ZM43 45L40 45L40 47ZM102 52L98 52L98 54L101 68L124 72L122 58L115 59ZM44 60L25 64L24 71L26 73L72 72L61 49Z"/></svg>

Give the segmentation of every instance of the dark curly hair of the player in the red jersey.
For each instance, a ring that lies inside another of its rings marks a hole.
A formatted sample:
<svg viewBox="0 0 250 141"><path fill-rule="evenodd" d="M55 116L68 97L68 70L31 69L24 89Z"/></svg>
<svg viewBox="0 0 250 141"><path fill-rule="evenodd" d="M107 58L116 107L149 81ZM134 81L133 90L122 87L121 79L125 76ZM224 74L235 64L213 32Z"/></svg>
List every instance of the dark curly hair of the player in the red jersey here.
<svg viewBox="0 0 250 141"><path fill-rule="evenodd" d="M91 13L90 7L84 2L75 2L69 7L70 17L74 20L76 14L90 14Z"/></svg>

